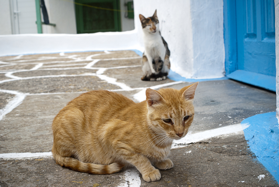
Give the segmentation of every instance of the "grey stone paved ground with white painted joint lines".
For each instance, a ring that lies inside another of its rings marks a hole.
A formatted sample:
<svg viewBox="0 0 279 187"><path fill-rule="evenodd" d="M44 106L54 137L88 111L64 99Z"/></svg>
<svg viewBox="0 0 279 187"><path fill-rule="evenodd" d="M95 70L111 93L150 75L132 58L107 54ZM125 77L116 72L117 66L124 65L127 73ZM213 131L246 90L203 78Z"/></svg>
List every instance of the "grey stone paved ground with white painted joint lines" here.
<svg viewBox="0 0 279 187"><path fill-rule="evenodd" d="M220 127L230 129L247 117L276 109L274 92L233 80L199 83L190 143L171 149L174 168L160 171L159 181L147 183L135 169L90 175L55 164L51 122L79 94L109 89L139 102L148 87L192 84L141 81L140 58L134 51L0 57L0 186L279 186L250 151L241 129L214 134ZM207 139L195 139L200 132Z"/></svg>

